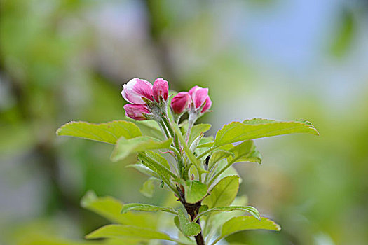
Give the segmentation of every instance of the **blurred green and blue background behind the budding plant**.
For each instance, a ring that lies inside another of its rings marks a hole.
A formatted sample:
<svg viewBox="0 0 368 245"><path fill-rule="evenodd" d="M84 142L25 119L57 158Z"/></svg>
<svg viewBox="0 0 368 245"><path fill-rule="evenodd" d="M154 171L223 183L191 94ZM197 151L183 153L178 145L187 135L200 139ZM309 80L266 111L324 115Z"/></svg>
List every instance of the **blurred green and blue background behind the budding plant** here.
<svg viewBox="0 0 368 245"><path fill-rule="evenodd" d="M83 241L109 223L79 207L87 190L164 202L110 146L55 137L69 120L123 118L121 85L161 76L210 88L212 134L254 117L321 134L256 141L264 162L236 166L240 193L282 231L228 241L368 244L368 1L0 3L0 244Z"/></svg>

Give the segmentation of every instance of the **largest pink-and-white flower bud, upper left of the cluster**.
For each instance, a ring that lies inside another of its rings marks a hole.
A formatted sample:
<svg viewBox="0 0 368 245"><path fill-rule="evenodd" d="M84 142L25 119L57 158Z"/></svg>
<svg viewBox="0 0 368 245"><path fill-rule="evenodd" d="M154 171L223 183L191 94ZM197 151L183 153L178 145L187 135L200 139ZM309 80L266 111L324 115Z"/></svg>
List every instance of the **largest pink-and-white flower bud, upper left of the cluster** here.
<svg viewBox="0 0 368 245"><path fill-rule="evenodd" d="M133 78L128 83L123 85L123 91L121 91L123 98L132 104L146 104L142 97L149 100L152 98L152 84L146 80Z"/></svg>

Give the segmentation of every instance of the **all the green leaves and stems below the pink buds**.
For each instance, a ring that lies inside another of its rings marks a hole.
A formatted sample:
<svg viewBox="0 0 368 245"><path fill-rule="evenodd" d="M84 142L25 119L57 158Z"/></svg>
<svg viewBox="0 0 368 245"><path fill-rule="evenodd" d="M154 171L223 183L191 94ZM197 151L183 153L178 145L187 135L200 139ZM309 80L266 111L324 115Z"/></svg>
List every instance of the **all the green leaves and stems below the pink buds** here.
<svg viewBox="0 0 368 245"><path fill-rule="evenodd" d="M261 163L261 155L252 139L300 132L318 134L313 125L306 120L276 122L254 118L244 120L242 123L233 122L224 125L217 132L215 139L203 137L203 133L210 129L208 124L193 127L184 125L182 127L184 134L186 130L191 129L189 139L186 141L179 126L170 119L163 119L161 126L167 131L161 132L165 133L161 134L161 137L160 127L149 121L136 122L137 125L127 121L113 121L99 125L84 122L67 123L57 130L59 135L115 144L111 153L113 161L124 160L129 155L137 154L139 162L128 167L150 176L140 188L141 193L146 197L152 197L154 183L161 179L161 186L172 190L186 208L184 213L183 209L175 210L172 207L139 203L122 204L112 197L97 197L89 192L81 200L82 207L120 225L106 225L86 237L124 239L126 243L163 239L177 241L180 244L193 244L189 237L202 236L201 220L206 224L203 231L205 235L212 237L216 232L220 233L213 244L241 230L280 230L280 226L273 221L260 217L254 207L245 206L245 202L234 201L241 179L232 165L236 162ZM144 132L144 136L141 131ZM166 136L170 138L167 139ZM233 144L239 141L243 142ZM170 165L169 158L164 158L161 153L153 150L165 150L170 153L176 160L177 169L175 165ZM215 183L214 186L212 183ZM156 211L175 214L174 223L182 232L179 240L155 230L157 215L160 214ZM243 216L245 212L252 216ZM224 213L231 215L226 216ZM239 214L241 216L238 216Z"/></svg>

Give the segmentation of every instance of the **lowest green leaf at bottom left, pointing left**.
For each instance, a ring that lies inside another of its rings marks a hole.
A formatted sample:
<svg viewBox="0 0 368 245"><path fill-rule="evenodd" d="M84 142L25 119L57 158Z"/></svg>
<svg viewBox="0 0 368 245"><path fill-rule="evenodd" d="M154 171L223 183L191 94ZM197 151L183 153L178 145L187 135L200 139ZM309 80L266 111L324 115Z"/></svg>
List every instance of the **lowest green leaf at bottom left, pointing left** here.
<svg viewBox="0 0 368 245"><path fill-rule="evenodd" d="M120 237L135 237L144 240L161 239L175 241L163 232L158 232L149 228L141 228L132 225L105 225L90 234L86 235L87 239L96 238L120 238Z"/></svg>

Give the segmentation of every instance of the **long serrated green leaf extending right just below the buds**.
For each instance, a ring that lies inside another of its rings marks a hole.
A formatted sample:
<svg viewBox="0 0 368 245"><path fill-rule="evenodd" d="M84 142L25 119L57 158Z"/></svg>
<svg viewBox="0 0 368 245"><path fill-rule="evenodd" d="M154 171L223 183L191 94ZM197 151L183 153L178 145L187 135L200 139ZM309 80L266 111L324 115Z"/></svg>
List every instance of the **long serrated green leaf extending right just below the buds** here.
<svg viewBox="0 0 368 245"><path fill-rule="evenodd" d="M245 120L243 123L233 122L224 125L216 134L214 146L219 147L248 139L294 133L318 135L318 131L306 120L276 122L275 120L254 118Z"/></svg>

